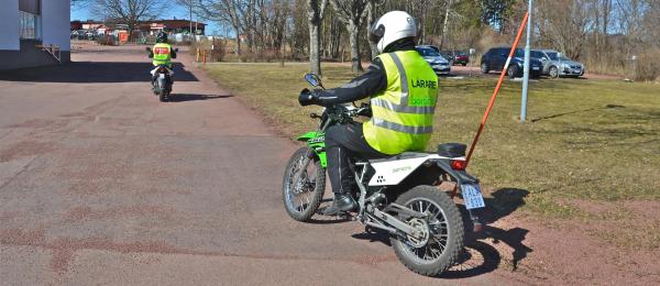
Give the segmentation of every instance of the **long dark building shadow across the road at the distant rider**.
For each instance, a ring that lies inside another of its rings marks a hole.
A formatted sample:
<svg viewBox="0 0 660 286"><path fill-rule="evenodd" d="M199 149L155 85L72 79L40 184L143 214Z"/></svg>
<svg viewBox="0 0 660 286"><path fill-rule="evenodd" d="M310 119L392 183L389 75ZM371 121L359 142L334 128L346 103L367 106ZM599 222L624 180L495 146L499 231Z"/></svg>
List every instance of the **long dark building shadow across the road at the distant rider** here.
<svg viewBox="0 0 660 286"><path fill-rule="evenodd" d="M199 81L185 69L182 63L174 63L176 81ZM148 62L73 62L63 66L24 68L0 73L0 80L64 82L64 84L112 84L148 82L153 65Z"/></svg>

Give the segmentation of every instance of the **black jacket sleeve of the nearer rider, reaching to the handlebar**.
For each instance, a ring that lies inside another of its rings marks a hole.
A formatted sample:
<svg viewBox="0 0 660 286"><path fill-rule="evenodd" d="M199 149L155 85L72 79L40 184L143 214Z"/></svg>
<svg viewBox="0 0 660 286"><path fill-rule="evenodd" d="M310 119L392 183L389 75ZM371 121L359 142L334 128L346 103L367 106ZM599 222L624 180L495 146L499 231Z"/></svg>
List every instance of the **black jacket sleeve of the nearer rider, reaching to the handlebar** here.
<svg viewBox="0 0 660 286"><path fill-rule="evenodd" d="M349 84L327 90L316 90L321 105L346 103L369 98L387 88L387 74L380 58L375 58L366 73Z"/></svg>

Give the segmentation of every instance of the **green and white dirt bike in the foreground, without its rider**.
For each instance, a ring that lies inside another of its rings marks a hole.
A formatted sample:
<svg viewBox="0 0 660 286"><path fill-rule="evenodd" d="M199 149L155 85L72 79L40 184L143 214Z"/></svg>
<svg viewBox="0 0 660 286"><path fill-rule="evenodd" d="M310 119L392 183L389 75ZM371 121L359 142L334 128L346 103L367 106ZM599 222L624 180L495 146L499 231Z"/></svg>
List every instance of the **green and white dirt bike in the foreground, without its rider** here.
<svg viewBox="0 0 660 286"><path fill-rule="evenodd" d="M320 79L305 79L322 88ZM298 141L307 143L296 151L283 183L287 213L297 221L309 221L319 210L326 190L324 131L332 124L352 122L371 113L369 105L326 107L318 131ZM355 213L346 213L366 228L387 231L399 261L426 276L438 276L453 266L463 251L464 226L457 204L438 186L453 182L461 189L475 231L482 227L479 212L485 207L479 179L465 172L465 145L440 144L438 153L406 152L380 160L354 158L352 170L358 189L351 195L359 202Z"/></svg>

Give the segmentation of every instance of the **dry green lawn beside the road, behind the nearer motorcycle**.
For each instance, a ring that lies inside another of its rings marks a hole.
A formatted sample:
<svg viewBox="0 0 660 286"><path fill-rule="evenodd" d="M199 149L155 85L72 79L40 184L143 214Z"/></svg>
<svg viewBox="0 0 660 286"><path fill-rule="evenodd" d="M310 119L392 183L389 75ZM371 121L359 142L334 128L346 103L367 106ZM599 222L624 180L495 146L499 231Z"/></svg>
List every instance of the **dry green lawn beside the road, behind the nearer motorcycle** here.
<svg viewBox="0 0 660 286"><path fill-rule="evenodd" d="M308 87L305 64L218 64L210 75L295 136L316 128L318 107L300 108ZM323 66L324 84L350 80L350 67ZM470 143L495 78L440 78L436 133L441 142ZM562 199L660 199L660 86L591 79L530 82L528 123L518 121L520 82L506 81L473 156L470 172L486 190L525 189L525 209L571 217Z"/></svg>

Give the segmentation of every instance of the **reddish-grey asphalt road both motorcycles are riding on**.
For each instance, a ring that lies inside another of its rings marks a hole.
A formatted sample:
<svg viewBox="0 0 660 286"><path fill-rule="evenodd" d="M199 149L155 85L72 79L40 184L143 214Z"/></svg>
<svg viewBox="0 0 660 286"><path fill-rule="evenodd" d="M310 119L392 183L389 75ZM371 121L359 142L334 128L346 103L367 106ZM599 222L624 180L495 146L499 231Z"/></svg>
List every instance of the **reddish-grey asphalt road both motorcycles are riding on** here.
<svg viewBox="0 0 660 286"><path fill-rule="evenodd" d="M497 263L422 277L359 223L289 219L297 146L180 54L174 102L142 47L0 75L0 284L510 284Z"/></svg>

